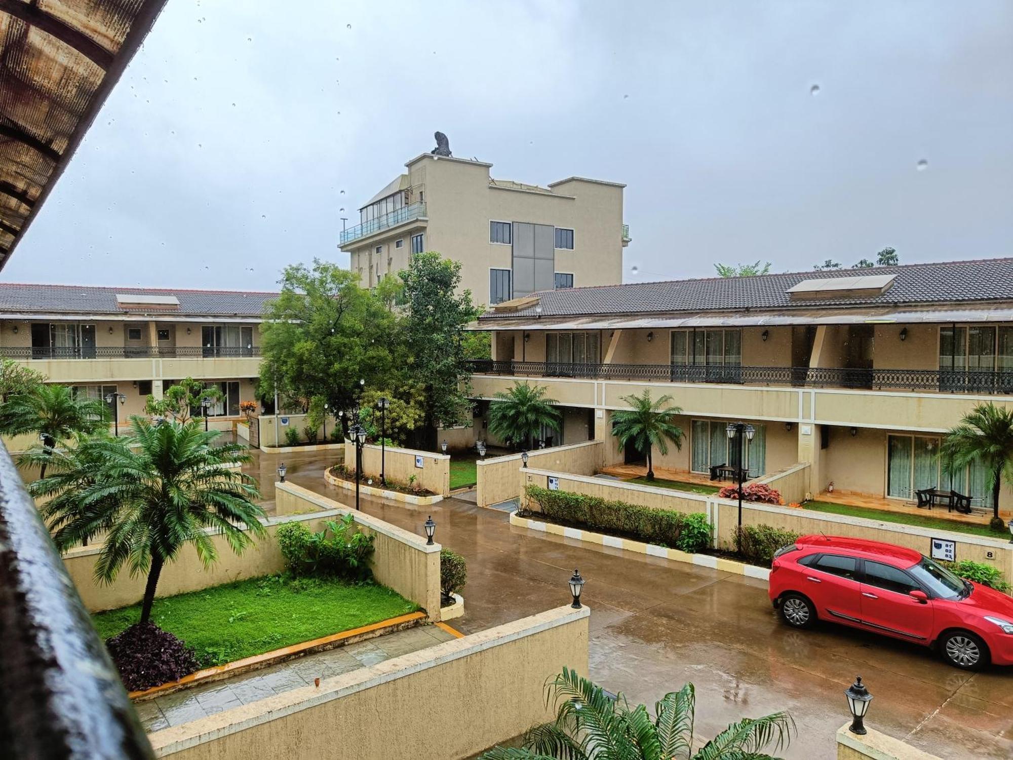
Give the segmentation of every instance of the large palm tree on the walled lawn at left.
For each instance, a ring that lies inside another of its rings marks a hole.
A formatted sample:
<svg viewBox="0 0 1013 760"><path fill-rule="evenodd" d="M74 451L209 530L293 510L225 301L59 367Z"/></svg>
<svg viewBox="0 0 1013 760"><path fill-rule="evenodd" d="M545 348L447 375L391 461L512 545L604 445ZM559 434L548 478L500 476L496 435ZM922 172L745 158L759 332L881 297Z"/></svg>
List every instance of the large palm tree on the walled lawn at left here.
<svg viewBox="0 0 1013 760"><path fill-rule="evenodd" d="M125 563L132 576L147 574L142 623L163 565L184 544L207 567L218 558L207 529L224 534L237 554L251 541L246 531L264 533L264 512L251 501L259 497L255 481L228 467L251 457L237 444L213 446L218 435L196 421L154 426L135 416L131 435L79 440L53 459L55 475L28 486L33 497L53 497L42 513L61 551L105 532L98 580L111 583Z"/></svg>

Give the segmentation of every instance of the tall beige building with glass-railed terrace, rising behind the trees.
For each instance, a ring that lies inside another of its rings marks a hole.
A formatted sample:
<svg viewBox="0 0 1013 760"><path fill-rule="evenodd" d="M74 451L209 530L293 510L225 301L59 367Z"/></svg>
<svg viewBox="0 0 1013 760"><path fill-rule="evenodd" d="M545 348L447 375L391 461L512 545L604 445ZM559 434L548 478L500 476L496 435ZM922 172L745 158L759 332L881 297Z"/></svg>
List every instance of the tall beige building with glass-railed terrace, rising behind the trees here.
<svg viewBox="0 0 1013 760"><path fill-rule="evenodd" d="M493 179L492 164L423 153L360 209L341 250L364 287L439 251L462 288L496 304L534 291L622 282L623 187L569 177L548 187Z"/></svg>

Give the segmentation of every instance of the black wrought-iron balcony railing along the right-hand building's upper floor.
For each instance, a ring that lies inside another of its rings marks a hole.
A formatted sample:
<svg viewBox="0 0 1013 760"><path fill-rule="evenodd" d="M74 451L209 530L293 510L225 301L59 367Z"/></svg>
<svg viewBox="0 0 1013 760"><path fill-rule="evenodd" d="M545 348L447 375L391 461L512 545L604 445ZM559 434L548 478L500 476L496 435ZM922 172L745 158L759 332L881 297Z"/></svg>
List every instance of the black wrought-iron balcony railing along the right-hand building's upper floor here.
<svg viewBox="0 0 1013 760"><path fill-rule="evenodd" d="M876 370L808 367L704 367L667 364L470 363L476 375L570 377L594 380L653 380L805 388L933 390L945 393L1013 393L1013 371Z"/></svg>

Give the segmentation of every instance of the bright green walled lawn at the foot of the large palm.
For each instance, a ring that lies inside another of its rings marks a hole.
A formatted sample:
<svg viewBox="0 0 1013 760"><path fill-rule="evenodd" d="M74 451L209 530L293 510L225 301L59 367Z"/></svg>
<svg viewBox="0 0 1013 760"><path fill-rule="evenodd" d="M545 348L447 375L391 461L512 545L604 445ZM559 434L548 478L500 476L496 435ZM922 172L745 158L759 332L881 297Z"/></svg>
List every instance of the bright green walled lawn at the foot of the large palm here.
<svg viewBox="0 0 1013 760"><path fill-rule="evenodd" d="M206 668L417 609L384 586L267 576L156 599L151 619L192 647ZM140 616L135 604L93 617L105 639Z"/></svg>

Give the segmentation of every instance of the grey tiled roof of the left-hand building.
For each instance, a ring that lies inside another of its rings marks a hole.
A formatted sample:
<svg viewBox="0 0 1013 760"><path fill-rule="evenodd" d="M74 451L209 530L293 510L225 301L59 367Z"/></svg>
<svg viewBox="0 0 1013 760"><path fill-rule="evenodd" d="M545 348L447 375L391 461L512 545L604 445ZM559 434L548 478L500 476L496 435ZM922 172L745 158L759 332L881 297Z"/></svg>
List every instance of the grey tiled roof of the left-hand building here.
<svg viewBox="0 0 1013 760"><path fill-rule="evenodd" d="M116 294L175 296L178 308L166 309L150 304L116 302ZM265 301L278 293L184 290L172 288L106 288L87 285L21 285L0 283L0 316L4 313L40 314L145 314L168 313L175 316L250 316L263 313Z"/></svg>

